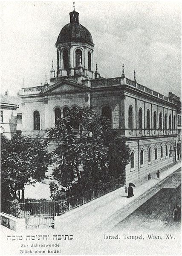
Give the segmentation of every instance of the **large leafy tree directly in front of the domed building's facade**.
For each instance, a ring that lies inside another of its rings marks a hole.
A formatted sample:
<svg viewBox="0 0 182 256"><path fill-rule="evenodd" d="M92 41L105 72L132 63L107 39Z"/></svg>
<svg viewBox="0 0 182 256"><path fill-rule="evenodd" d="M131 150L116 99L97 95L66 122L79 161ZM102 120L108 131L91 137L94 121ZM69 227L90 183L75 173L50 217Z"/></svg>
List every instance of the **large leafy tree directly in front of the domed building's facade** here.
<svg viewBox="0 0 182 256"><path fill-rule="evenodd" d="M56 144L54 178L72 194L120 177L128 163L129 148L108 127L91 108L75 107L47 129L48 143Z"/></svg>

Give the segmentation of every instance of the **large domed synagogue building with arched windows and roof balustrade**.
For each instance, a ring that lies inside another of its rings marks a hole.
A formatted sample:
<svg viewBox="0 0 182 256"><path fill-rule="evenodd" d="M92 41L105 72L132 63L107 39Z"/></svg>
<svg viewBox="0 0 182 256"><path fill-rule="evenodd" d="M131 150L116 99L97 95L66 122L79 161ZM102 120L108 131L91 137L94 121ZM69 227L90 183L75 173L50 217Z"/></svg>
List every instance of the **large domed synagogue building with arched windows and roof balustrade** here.
<svg viewBox="0 0 182 256"><path fill-rule="evenodd" d="M128 79L124 66L120 77L105 79L93 72L90 32L70 12L70 23L61 29L57 48L57 76L51 68L50 84L23 88L23 133L44 136L67 108L95 106L111 122L111 129L131 149L124 182L139 182L177 161L177 105L173 99Z"/></svg>

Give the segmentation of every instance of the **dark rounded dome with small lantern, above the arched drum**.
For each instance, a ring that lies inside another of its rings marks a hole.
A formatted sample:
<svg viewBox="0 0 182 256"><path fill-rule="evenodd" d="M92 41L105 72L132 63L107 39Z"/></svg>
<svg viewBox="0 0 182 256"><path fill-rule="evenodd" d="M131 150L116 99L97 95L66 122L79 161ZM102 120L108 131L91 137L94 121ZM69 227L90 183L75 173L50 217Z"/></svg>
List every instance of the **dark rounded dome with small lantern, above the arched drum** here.
<svg viewBox="0 0 182 256"><path fill-rule="evenodd" d="M58 36L57 42L64 43L64 42L87 42L93 45L92 35L84 26L79 24L78 22L78 12L70 12L70 23L64 26L61 29L61 32Z"/></svg>

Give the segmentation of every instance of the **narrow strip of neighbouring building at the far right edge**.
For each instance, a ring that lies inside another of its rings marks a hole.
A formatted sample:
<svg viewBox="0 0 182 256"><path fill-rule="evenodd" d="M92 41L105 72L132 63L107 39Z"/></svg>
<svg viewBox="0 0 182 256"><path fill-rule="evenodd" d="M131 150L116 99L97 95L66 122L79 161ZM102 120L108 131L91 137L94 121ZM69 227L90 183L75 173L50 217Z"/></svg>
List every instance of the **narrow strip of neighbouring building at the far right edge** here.
<svg viewBox="0 0 182 256"><path fill-rule="evenodd" d="M182 103L180 98L172 92L169 92L170 100L173 100L177 105L177 129L178 129L178 142L177 142L177 154L178 160L182 159L181 147L182 147Z"/></svg>

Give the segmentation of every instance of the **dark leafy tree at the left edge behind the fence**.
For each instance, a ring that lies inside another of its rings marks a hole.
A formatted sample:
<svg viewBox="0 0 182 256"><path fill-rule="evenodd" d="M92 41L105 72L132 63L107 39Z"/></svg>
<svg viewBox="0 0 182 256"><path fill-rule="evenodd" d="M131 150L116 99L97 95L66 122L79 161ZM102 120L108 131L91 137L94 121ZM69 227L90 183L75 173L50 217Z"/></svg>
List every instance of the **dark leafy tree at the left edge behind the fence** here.
<svg viewBox="0 0 182 256"><path fill-rule="evenodd" d="M1 197L14 199L26 184L45 177L50 154L40 138L15 135L1 138Z"/></svg>

